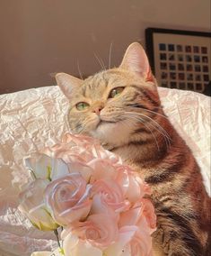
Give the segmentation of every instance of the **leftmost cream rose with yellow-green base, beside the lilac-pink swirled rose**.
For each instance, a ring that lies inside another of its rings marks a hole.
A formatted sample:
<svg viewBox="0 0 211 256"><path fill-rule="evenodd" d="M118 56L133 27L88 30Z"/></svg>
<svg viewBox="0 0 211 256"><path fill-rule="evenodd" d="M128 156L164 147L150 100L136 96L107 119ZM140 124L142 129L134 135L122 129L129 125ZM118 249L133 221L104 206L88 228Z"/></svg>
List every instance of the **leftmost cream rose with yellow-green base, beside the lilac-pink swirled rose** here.
<svg viewBox="0 0 211 256"><path fill-rule="evenodd" d="M43 193L48 181L38 178L20 194L19 210L26 215L31 223L42 231L55 230L55 223L43 201Z"/></svg>

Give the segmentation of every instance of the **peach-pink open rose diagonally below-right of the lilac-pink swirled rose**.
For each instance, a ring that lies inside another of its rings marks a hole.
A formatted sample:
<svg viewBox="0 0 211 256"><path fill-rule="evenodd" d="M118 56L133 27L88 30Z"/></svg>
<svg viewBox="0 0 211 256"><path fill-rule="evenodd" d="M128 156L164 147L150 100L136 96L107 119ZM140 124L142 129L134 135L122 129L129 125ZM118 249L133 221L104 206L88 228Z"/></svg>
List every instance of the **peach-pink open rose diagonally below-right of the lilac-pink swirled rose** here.
<svg viewBox="0 0 211 256"><path fill-rule="evenodd" d="M100 249L105 249L119 237L116 217L107 214L89 215L84 223L75 224L72 232Z"/></svg>

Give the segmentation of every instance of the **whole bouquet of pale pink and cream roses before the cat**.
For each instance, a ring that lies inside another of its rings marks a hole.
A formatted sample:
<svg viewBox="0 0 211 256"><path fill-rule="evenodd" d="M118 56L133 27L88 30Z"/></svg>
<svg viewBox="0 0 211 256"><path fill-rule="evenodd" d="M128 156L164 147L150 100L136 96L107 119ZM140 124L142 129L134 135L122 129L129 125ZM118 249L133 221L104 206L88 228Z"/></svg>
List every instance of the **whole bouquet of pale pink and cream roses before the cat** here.
<svg viewBox="0 0 211 256"><path fill-rule="evenodd" d="M31 182L22 187L19 209L58 242L56 251L31 255L152 255L150 187L99 142L66 133L25 166Z"/></svg>

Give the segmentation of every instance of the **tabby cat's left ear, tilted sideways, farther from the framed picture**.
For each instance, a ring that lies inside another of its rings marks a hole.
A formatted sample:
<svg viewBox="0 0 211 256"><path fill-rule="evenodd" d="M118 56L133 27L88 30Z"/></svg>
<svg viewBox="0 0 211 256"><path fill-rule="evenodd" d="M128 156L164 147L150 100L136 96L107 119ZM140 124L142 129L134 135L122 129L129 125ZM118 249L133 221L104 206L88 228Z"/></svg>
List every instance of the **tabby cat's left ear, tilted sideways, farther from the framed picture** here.
<svg viewBox="0 0 211 256"><path fill-rule="evenodd" d="M70 98L75 88L80 87L83 83L83 80L66 73L57 73L55 78L57 80L57 86L60 87L67 98Z"/></svg>

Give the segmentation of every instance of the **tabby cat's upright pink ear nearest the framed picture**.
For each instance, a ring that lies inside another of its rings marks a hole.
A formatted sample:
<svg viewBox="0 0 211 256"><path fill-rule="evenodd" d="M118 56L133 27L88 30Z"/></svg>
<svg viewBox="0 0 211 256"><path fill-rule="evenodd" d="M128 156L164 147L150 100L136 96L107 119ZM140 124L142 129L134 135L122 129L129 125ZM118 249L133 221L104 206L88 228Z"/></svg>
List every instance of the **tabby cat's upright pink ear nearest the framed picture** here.
<svg viewBox="0 0 211 256"><path fill-rule="evenodd" d="M138 42L133 42L128 46L119 68L130 70L144 78L145 81L154 81L145 50Z"/></svg>

